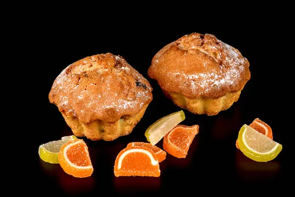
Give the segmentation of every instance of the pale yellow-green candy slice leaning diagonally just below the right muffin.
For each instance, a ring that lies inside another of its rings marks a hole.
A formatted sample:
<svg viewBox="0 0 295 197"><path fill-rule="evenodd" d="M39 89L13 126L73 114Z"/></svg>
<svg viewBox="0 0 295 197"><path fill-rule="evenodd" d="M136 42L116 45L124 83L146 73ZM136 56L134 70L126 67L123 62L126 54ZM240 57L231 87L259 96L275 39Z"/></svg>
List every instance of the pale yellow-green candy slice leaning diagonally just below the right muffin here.
<svg viewBox="0 0 295 197"><path fill-rule="evenodd" d="M150 142L152 145L155 145L164 137L166 133L171 131L184 119L185 115L181 110L157 120L154 124L149 126L145 132L148 142Z"/></svg>

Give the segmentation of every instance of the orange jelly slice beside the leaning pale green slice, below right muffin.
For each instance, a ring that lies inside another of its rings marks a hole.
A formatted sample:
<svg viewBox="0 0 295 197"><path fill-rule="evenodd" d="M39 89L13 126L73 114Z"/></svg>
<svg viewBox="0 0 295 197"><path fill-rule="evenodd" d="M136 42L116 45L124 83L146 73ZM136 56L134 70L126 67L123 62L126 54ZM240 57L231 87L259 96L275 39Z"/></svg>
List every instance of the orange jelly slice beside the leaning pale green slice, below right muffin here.
<svg viewBox="0 0 295 197"><path fill-rule="evenodd" d="M194 137L199 132L199 126L177 125L164 136L163 148L170 155L185 158Z"/></svg>

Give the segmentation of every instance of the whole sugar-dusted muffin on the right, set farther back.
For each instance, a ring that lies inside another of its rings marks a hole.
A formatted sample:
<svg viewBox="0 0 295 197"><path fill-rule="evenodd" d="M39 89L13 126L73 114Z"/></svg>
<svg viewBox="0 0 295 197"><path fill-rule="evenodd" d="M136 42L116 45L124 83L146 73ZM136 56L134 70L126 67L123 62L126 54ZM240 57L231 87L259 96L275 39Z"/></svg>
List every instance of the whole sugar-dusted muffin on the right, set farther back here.
<svg viewBox="0 0 295 197"><path fill-rule="evenodd" d="M148 76L177 106L216 115L238 100L250 70L248 60L234 47L212 34L191 33L162 48Z"/></svg>

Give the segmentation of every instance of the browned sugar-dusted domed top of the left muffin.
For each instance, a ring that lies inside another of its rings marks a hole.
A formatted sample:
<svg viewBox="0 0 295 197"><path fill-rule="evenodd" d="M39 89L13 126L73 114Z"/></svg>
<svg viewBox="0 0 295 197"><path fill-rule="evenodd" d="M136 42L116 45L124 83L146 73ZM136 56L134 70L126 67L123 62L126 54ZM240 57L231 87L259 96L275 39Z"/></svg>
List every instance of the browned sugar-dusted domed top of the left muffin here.
<svg viewBox="0 0 295 197"><path fill-rule="evenodd" d="M152 100L148 80L122 57L94 55L67 66L54 81L49 100L82 123L117 122Z"/></svg>

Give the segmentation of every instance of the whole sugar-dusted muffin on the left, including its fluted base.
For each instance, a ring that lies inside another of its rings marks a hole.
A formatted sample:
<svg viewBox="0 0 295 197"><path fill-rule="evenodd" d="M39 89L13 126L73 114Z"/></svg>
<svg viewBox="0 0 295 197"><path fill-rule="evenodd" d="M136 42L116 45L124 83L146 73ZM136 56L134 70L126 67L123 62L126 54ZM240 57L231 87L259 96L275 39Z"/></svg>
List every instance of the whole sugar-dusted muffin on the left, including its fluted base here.
<svg viewBox="0 0 295 197"><path fill-rule="evenodd" d="M122 57L94 55L67 66L49 100L76 136L111 141L129 134L152 100L148 80Z"/></svg>

